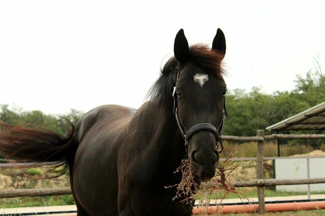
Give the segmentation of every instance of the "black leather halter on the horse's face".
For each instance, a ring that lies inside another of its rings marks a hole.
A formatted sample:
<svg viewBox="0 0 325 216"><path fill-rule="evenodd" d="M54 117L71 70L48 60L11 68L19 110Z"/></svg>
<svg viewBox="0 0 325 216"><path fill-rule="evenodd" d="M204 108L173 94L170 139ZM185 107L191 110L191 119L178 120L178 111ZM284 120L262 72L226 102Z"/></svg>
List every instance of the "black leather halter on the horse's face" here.
<svg viewBox="0 0 325 216"><path fill-rule="evenodd" d="M179 69L178 69L179 71ZM219 126L219 129L217 130L216 127L210 123L198 123L194 126L192 126L186 133L184 132L183 127L180 124L179 118L178 118L178 111L177 111L177 94L175 94L175 89L176 89L176 82L178 79L178 71L177 71L177 77L176 77L176 81L174 83L173 86L173 91L172 91L172 97L174 100L174 105L173 105L173 114L175 115L176 118L176 122L177 122L177 126L178 129L184 139L185 142L185 151L187 152L187 148L188 148L188 140L191 138L191 136L193 136L193 134L195 134L198 131L210 131L214 134L215 139L216 139L216 149L218 149L219 147L219 143L220 143L220 147L221 147L221 151L219 151L219 153L221 153L223 151L223 143L222 143L222 130L223 130L223 124L224 124L224 119L227 116L227 112L225 110L225 97L223 100L223 117L222 117L222 121L221 124Z"/></svg>

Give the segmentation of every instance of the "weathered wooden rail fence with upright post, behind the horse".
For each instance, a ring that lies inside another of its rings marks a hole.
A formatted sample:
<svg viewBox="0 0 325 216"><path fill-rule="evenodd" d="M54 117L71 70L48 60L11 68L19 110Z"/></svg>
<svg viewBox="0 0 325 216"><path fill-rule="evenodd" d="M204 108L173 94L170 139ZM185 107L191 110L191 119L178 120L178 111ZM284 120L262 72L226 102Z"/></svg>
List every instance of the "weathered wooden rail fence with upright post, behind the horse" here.
<svg viewBox="0 0 325 216"><path fill-rule="evenodd" d="M325 139L325 134L272 134L264 136L263 130L257 130L256 136L252 137L237 137L237 136L222 136L223 140L239 141L239 142L257 142L256 155L256 180L233 182L234 187L257 187L258 197L258 212L265 213L264 202L264 187L274 185L303 185L303 184L318 184L325 183L325 178L313 179L263 179L263 160L271 158L263 158L263 144L265 140L272 139ZM238 160L238 159L234 159ZM32 164L28 164L32 165ZM2 165L3 166L3 165ZM7 166L7 165L6 165ZM0 164L1 167L1 164ZM34 197L34 196L52 196L71 194L69 187L62 188L44 188L44 189L20 189L20 190L2 190L0 198L11 197Z"/></svg>

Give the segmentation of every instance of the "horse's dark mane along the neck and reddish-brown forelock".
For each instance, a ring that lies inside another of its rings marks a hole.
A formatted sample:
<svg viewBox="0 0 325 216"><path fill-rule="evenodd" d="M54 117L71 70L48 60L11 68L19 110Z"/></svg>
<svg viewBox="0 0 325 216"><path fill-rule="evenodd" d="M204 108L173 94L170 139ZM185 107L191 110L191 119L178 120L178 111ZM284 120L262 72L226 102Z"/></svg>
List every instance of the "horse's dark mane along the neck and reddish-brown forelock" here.
<svg viewBox="0 0 325 216"><path fill-rule="evenodd" d="M194 44L189 46L189 61L194 62L197 66L208 73L212 73L222 78L222 68L220 61L223 55L217 51L211 51L206 44ZM170 105L173 101L172 87L177 76L177 60L174 56L169 58L160 69L159 78L149 89L146 98L152 103L164 103Z"/></svg>

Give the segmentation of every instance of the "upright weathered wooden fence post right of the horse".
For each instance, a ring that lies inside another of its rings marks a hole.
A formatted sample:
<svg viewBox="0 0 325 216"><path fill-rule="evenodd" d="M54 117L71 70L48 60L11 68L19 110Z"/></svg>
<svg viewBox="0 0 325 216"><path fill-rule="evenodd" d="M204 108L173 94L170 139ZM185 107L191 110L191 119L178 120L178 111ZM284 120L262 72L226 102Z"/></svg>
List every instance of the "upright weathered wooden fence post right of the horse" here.
<svg viewBox="0 0 325 216"><path fill-rule="evenodd" d="M257 136L264 136L264 130L257 130ZM256 179L263 179L264 139L257 142ZM257 186L258 213L265 214L264 186Z"/></svg>

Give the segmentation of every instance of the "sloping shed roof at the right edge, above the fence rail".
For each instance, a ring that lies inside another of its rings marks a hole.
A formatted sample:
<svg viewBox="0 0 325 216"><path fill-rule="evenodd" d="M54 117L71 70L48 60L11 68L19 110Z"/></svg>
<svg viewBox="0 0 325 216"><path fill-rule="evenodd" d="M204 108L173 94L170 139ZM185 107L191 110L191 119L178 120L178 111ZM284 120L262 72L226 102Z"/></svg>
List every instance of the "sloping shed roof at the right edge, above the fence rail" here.
<svg viewBox="0 0 325 216"><path fill-rule="evenodd" d="M325 102L268 126L266 130L325 130Z"/></svg>

